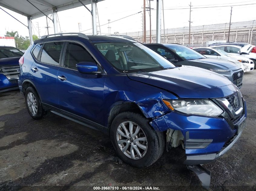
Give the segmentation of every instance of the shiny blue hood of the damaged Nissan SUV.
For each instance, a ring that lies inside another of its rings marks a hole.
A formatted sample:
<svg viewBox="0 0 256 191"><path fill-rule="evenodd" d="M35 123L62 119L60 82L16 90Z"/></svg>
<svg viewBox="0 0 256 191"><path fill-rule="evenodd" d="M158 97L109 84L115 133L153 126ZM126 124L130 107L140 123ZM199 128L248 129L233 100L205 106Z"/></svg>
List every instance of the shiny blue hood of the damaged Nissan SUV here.
<svg viewBox="0 0 256 191"><path fill-rule="evenodd" d="M234 84L224 76L194 66L127 75L132 80L165 89L182 98L225 97L236 91Z"/></svg>

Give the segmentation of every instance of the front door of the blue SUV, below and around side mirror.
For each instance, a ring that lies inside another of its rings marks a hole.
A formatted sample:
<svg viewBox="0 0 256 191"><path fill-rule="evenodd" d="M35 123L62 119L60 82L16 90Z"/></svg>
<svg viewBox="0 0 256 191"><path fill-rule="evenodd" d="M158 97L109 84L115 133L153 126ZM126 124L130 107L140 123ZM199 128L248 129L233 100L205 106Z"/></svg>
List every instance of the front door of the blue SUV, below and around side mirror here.
<svg viewBox="0 0 256 191"><path fill-rule="evenodd" d="M68 42L62 58L62 67L58 70L59 107L70 116L82 117L82 120L89 119L90 121L85 122L93 125L91 121L95 121L102 112L105 75L82 74L77 70L78 62L97 63L84 45Z"/></svg>

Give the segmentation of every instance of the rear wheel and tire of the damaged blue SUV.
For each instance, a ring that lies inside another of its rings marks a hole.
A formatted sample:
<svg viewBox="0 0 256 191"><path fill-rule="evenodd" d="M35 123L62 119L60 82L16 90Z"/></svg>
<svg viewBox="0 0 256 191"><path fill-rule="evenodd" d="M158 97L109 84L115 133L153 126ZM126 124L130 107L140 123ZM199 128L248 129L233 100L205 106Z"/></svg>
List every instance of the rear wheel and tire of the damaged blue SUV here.
<svg viewBox="0 0 256 191"><path fill-rule="evenodd" d="M35 88L28 87L25 91L25 103L29 115L33 119L43 119L47 116L48 111L45 111L42 107L42 103L39 99Z"/></svg>

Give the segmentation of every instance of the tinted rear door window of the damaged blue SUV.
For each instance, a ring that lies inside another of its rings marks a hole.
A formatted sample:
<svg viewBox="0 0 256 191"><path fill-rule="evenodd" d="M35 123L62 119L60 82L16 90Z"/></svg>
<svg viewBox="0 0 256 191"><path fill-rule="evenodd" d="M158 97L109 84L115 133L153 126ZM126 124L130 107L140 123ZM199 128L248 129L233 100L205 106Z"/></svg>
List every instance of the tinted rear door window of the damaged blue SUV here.
<svg viewBox="0 0 256 191"><path fill-rule="evenodd" d="M63 42L45 43L40 61L47 64L59 65L62 46Z"/></svg>

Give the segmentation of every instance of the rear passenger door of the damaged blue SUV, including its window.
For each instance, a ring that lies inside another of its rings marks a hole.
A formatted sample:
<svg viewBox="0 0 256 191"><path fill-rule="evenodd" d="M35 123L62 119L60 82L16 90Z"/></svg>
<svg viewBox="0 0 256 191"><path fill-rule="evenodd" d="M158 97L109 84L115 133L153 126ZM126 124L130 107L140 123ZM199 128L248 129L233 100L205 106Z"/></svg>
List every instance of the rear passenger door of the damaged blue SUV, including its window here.
<svg viewBox="0 0 256 191"><path fill-rule="evenodd" d="M47 42L41 49L38 46L32 53L35 62L30 68L30 80L34 83L42 103L58 107L57 74L64 42ZM39 52L39 53L37 53Z"/></svg>

